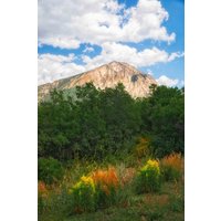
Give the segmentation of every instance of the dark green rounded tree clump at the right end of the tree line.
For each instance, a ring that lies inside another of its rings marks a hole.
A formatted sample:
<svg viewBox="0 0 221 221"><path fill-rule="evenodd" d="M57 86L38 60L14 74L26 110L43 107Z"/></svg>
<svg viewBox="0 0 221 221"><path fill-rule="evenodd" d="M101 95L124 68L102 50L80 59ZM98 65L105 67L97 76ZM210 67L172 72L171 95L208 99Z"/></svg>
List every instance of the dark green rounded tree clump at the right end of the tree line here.
<svg viewBox="0 0 221 221"><path fill-rule="evenodd" d="M141 106L141 129L151 136L152 154L164 157L185 151L185 94L182 90L159 86Z"/></svg>

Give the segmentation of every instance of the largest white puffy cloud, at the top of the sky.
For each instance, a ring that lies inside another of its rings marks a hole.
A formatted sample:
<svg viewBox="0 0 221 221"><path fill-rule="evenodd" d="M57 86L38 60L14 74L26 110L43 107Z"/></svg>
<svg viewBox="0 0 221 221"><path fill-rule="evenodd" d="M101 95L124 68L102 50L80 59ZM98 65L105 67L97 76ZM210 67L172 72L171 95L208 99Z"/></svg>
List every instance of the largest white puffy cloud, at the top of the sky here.
<svg viewBox="0 0 221 221"><path fill-rule="evenodd" d="M116 0L39 1L39 44L76 49L81 43L171 42L162 25L169 18L158 0L138 0L126 9Z"/></svg>

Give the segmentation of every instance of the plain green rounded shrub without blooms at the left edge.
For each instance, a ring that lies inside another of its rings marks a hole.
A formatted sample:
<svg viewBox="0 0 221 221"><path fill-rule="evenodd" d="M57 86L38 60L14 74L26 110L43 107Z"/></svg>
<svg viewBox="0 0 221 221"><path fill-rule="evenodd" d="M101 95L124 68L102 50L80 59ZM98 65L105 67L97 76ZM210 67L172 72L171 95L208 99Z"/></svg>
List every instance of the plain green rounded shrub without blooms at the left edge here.
<svg viewBox="0 0 221 221"><path fill-rule="evenodd" d="M39 180L46 185L57 182L63 178L64 170L61 162L50 157L49 159L40 158L38 165Z"/></svg>

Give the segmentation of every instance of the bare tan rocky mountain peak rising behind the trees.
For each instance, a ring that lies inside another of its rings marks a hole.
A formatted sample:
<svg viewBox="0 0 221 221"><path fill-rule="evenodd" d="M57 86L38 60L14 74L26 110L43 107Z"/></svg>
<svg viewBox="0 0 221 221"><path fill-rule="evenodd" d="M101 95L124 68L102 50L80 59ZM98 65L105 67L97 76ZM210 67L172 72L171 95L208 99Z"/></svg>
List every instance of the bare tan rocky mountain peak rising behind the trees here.
<svg viewBox="0 0 221 221"><path fill-rule="evenodd" d="M42 99L53 88L69 90L92 82L97 88L115 87L123 83L125 90L133 97L145 97L149 95L149 86L157 82L148 74L143 74L134 66L124 62L110 62L92 71L59 80L39 86L39 99Z"/></svg>

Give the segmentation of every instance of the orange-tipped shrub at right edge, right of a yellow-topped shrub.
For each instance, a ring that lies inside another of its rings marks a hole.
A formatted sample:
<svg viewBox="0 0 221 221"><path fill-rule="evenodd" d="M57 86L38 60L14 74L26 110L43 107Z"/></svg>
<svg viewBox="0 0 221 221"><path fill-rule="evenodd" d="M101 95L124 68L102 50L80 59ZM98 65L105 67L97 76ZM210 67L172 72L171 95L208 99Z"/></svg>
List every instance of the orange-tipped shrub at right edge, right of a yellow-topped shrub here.
<svg viewBox="0 0 221 221"><path fill-rule="evenodd" d="M162 177L166 181L178 181L182 172L181 154L171 154L160 161Z"/></svg>

